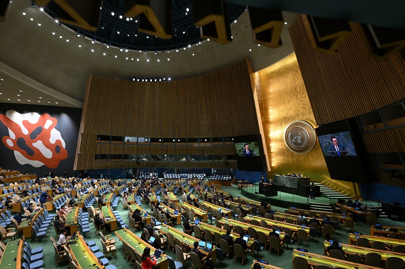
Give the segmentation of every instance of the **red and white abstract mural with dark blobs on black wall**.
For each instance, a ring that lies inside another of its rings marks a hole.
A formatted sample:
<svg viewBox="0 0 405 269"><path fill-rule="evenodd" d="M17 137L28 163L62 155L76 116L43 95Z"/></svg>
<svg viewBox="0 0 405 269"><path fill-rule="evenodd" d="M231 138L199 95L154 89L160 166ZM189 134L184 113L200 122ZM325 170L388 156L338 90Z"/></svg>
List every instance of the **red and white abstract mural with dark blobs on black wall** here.
<svg viewBox="0 0 405 269"><path fill-rule="evenodd" d="M58 120L49 114L20 114L9 110L6 115L0 115L0 121L9 130L9 136L3 136L2 141L14 151L20 165L53 169L67 158L66 143L55 128Z"/></svg>

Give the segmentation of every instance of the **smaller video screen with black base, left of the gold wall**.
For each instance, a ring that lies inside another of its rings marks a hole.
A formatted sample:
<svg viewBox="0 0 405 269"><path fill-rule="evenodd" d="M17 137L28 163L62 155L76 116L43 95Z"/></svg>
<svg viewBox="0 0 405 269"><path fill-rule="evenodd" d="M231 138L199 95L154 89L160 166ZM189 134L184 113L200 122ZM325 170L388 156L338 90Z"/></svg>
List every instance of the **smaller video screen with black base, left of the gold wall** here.
<svg viewBox="0 0 405 269"><path fill-rule="evenodd" d="M242 171L264 171L263 145L260 135L234 138L237 167Z"/></svg>

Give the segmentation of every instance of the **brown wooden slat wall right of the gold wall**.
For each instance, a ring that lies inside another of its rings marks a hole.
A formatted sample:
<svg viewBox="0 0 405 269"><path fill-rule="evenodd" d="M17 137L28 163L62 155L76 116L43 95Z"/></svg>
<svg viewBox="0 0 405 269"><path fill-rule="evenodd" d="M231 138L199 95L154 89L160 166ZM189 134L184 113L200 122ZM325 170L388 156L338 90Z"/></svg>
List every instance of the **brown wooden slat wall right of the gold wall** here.
<svg viewBox="0 0 405 269"><path fill-rule="evenodd" d="M335 55L311 47L302 18L289 29L317 125L357 117L405 98L405 62L398 53L376 62L367 55L353 23L350 25L353 33ZM362 136L370 155L405 151L404 127ZM405 187L403 180L374 168L379 183Z"/></svg>

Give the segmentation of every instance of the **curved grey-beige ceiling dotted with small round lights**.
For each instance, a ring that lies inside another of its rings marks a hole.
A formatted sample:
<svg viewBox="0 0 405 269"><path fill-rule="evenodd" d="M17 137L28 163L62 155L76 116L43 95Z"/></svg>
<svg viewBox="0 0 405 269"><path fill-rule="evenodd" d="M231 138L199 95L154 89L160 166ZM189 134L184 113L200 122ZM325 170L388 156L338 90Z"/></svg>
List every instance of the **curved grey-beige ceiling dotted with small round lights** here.
<svg viewBox="0 0 405 269"><path fill-rule="evenodd" d="M4 89L0 85L3 93L0 102L32 103L34 99L34 103L43 104L35 99L39 91L50 98L50 103L64 101L65 106L77 107L82 105L90 75L120 80L130 77L182 79L209 73L246 58L253 70L258 71L293 51L288 26L298 15L283 13L283 16L287 22L281 34L283 45L276 49L253 43L249 15L245 12L232 23L232 42L228 45L206 40L178 52L170 50L155 54L120 51L98 42L93 44L91 39L78 37L76 32L60 26L45 12L31 7L30 1L14 0L6 20L0 23L0 61L4 64L0 65L0 76L1 72L8 76L20 74L17 81L27 84L26 79L30 80L28 89L34 91L30 102L28 99L17 101L17 90Z"/></svg>

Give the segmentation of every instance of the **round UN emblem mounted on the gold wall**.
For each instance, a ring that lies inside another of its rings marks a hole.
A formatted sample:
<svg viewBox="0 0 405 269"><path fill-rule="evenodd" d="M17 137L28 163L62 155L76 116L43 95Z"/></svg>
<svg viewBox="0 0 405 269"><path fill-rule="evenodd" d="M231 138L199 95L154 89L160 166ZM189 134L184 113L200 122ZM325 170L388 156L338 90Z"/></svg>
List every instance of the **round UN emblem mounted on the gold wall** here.
<svg viewBox="0 0 405 269"><path fill-rule="evenodd" d="M315 146L315 131L304 121L290 123L284 131L286 146L297 154L304 154Z"/></svg>

